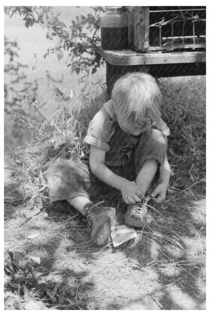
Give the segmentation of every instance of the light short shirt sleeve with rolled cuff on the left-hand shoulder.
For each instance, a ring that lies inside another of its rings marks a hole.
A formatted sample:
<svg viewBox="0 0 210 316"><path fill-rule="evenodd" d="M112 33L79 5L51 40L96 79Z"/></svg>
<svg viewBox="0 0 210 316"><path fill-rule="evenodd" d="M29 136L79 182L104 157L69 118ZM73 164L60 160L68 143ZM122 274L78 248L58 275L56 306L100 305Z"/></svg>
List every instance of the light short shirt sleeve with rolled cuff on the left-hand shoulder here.
<svg viewBox="0 0 210 316"><path fill-rule="evenodd" d="M109 142L114 134L113 120L109 113L101 108L89 123L87 135L83 143L87 147L92 145L100 150L109 151Z"/></svg>

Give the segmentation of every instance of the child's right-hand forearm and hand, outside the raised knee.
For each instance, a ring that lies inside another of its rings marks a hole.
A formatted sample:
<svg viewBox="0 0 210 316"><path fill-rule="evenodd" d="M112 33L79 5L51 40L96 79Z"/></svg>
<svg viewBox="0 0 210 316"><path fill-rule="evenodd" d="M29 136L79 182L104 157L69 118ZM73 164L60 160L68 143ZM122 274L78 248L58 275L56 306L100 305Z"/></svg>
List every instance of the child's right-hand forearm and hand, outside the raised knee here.
<svg viewBox="0 0 210 316"><path fill-rule="evenodd" d="M161 203L166 198L166 191L170 180L170 165L166 155L164 164L160 167L160 178L158 184L156 185L154 191L151 193L153 201L156 203Z"/></svg>

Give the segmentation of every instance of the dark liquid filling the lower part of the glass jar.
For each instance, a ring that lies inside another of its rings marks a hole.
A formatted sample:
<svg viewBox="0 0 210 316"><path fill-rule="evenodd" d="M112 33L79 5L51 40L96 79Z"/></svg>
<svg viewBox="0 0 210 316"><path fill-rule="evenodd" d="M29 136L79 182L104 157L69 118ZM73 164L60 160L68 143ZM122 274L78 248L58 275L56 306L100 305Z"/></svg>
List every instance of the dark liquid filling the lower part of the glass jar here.
<svg viewBox="0 0 210 316"><path fill-rule="evenodd" d="M104 50L128 48L128 27L101 27L101 47Z"/></svg>

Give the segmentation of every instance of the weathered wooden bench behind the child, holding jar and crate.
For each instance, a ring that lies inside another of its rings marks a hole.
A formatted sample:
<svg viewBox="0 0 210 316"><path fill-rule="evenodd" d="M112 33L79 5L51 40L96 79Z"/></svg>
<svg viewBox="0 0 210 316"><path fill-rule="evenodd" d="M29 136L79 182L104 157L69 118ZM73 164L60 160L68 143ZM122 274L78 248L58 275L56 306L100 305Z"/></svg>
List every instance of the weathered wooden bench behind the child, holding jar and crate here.
<svg viewBox="0 0 210 316"><path fill-rule="evenodd" d="M205 74L205 51L148 52L133 50L108 51L95 46L94 51L107 63L107 92L127 72L144 71L154 77Z"/></svg>

